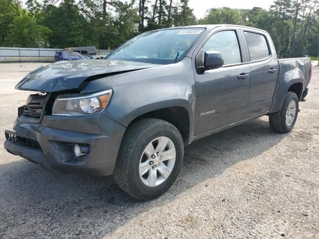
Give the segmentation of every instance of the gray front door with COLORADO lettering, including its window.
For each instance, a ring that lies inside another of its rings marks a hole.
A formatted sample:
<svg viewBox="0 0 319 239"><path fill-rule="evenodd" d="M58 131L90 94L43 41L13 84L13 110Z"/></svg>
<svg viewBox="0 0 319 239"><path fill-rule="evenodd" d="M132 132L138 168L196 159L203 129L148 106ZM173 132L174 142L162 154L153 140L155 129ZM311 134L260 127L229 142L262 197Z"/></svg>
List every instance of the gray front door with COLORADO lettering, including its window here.
<svg viewBox="0 0 319 239"><path fill-rule="evenodd" d="M222 53L224 65L204 73L195 73L195 135L246 118L250 66L245 64L245 49L241 32L229 29L214 32L199 50L198 54L207 51ZM197 66L198 62L195 64Z"/></svg>

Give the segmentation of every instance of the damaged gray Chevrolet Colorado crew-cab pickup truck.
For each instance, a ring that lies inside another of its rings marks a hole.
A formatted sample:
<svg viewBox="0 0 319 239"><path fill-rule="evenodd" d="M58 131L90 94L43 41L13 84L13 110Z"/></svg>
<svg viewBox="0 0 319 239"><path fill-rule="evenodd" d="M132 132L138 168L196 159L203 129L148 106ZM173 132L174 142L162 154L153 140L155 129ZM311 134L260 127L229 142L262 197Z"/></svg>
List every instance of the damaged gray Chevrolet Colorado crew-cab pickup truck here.
<svg viewBox="0 0 319 239"><path fill-rule="evenodd" d="M236 25L143 33L106 60L66 61L26 75L5 149L66 174L114 175L139 200L175 181L184 145L269 116L289 132L308 93L309 58L277 60L269 34Z"/></svg>

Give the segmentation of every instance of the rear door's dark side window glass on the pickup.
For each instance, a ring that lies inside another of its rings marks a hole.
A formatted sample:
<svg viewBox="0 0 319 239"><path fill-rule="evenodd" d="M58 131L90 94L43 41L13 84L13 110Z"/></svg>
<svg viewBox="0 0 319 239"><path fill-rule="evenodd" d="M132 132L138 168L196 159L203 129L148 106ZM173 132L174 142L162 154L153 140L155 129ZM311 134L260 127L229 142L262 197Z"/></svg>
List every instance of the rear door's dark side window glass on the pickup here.
<svg viewBox="0 0 319 239"><path fill-rule="evenodd" d="M264 35L245 31L245 37L251 61L261 60L270 55L267 40Z"/></svg>

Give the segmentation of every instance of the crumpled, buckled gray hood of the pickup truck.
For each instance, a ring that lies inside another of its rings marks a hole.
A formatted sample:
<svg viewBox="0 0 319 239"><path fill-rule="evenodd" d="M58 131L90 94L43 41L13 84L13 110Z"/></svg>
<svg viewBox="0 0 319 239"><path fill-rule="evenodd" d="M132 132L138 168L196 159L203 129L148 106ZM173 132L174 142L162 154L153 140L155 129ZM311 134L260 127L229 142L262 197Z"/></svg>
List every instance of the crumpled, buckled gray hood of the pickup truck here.
<svg viewBox="0 0 319 239"><path fill-rule="evenodd" d="M15 86L15 89L38 92L77 89L85 80L156 66L159 65L117 60L56 62L30 72Z"/></svg>

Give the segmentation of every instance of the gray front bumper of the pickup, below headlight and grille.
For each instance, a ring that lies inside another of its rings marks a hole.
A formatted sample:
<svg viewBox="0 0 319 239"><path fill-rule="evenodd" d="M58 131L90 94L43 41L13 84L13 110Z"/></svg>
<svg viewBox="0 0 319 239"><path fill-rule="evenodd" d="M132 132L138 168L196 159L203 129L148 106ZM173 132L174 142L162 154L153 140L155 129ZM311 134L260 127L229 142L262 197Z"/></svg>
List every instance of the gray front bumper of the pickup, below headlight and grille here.
<svg viewBox="0 0 319 239"><path fill-rule="evenodd" d="M111 175L125 129L103 114L94 117L45 116L41 124L16 119L12 133L37 146L7 139L4 148L53 173ZM75 143L89 146L89 152L76 158Z"/></svg>

